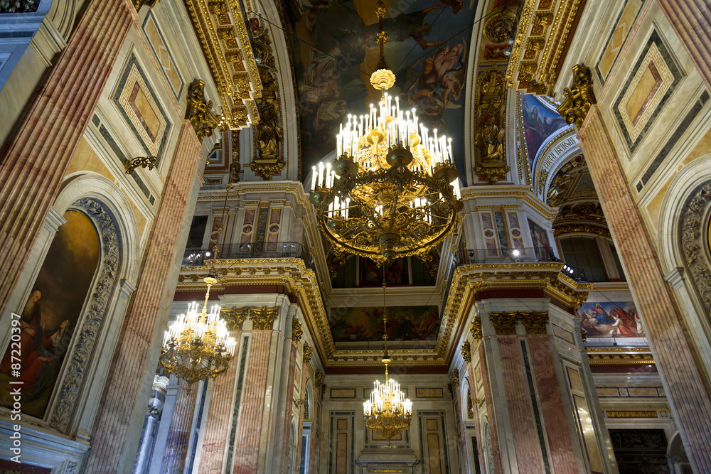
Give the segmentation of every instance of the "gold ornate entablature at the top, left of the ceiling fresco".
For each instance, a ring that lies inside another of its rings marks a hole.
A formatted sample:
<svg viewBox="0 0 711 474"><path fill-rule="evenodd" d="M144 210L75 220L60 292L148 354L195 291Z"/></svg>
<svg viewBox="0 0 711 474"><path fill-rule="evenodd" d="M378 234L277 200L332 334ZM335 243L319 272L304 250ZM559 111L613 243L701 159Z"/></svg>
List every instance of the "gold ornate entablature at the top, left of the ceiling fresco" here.
<svg viewBox="0 0 711 474"><path fill-rule="evenodd" d="M223 129L259 122L262 82L237 0L186 0L191 21L220 91Z"/></svg>

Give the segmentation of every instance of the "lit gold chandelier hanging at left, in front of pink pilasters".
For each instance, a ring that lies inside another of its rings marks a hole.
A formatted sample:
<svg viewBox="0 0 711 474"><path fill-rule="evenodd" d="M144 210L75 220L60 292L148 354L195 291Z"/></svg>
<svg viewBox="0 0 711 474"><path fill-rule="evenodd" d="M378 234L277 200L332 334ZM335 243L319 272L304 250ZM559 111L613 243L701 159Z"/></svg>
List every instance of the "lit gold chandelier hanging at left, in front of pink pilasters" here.
<svg viewBox="0 0 711 474"><path fill-rule="evenodd" d="M227 323L220 318L220 306L208 313L210 286L218 281L213 276L203 279L208 285L203 311L198 313L198 303L188 306L188 313L178 316L163 338L160 365L166 372L188 383L215 378L227 369L235 355L235 338L230 336Z"/></svg>

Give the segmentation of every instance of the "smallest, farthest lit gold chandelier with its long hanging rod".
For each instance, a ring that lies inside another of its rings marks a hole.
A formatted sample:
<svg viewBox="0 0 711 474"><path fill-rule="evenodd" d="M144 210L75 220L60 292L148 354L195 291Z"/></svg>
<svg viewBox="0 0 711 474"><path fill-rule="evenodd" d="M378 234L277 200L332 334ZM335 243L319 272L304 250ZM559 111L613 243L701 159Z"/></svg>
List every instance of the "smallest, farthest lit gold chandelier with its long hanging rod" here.
<svg viewBox="0 0 711 474"><path fill-rule="evenodd" d="M385 364L385 383L379 380L373 382L373 392L370 392L370 399L363 403L363 414L365 415L365 429L382 434L390 440L402 430L410 429L412 420L412 402L405 398L405 394L400 390L400 384L393 379L387 378L387 365L391 362L387 354L387 307L385 306L385 268L383 268L383 341L385 352L383 352L383 364Z"/></svg>

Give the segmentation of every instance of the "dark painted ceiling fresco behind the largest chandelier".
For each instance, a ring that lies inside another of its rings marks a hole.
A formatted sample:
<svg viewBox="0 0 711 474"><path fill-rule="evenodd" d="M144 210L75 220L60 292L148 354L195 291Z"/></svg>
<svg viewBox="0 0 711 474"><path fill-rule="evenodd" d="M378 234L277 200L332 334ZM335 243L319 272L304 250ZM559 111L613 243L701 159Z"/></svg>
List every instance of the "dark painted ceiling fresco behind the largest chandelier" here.
<svg viewBox="0 0 711 474"><path fill-rule="evenodd" d="M464 178L464 90L478 0L385 0L385 59L391 95L417 109L430 129L453 138ZM364 114L379 92L368 78L378 63L376 0L285 0L301 122L301 178L336 148L348 114Z"/></svg>

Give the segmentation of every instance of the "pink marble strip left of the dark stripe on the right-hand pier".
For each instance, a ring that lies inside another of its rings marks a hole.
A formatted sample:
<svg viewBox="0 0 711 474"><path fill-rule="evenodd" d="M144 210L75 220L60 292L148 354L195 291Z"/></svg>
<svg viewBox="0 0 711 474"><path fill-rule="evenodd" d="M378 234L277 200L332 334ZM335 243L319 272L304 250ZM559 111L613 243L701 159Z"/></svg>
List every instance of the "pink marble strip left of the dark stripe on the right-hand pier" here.
<svg viewBox="0 0 711 474"><path fill-rule="evenodd" d="M545 469L541 446L531 408L528 382L525 379L520 343L516 336L509 335L498 335L496 340L501 355L501 375L506 388L508 416L518 461L518 472L520 474L543 473Z"/></svg>

